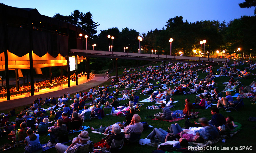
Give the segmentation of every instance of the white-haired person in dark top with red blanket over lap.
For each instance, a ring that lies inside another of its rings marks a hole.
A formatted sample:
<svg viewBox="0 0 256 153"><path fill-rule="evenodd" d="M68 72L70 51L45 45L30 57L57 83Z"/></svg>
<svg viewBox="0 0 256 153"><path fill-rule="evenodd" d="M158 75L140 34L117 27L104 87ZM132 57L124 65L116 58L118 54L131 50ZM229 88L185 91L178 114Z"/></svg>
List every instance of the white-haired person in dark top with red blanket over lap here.
<svg viewBox="0 0 256 153"><path fill-rule="evenodd" d="M124 138L124 133L121 132L121 128L118 124L112 125L111 135L106 136L100 142L97 142L93 145L94 148L103 148L106 147L107 150L110 149L112 140L122 140Z"/></svg>

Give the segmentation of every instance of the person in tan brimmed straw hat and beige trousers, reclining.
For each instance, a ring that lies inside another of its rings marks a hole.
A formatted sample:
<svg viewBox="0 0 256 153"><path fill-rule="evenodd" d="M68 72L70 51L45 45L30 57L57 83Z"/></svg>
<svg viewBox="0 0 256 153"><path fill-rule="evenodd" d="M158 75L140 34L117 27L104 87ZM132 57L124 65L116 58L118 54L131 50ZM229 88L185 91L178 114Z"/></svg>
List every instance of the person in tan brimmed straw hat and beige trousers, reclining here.
<svg viewBox="0 0 256 153"><path fill-rule="evenodd" d="M89 144L91 141L89 140L89 133L87 131L81 131L81 133L77 136L77 138L73 138L70 146L64 145L62 143L57 143L55 148L58 153L68 152L73 153L78 146Z"/></svg>

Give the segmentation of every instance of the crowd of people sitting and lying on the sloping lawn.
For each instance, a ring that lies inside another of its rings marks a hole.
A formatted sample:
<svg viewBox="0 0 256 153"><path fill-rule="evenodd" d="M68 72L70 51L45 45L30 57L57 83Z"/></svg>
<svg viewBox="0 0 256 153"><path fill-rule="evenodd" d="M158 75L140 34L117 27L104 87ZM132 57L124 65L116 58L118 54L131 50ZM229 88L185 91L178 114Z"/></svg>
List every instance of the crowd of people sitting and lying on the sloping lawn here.
<svg viewBox="0 0 256 153"><path fill-rule="evenodd" d="M250 66L252 66L251 63ZM168 128L169 132L162 128L154 128L153 131L147 136L146 139L151 141L155 138L159 139L160 142L164 143L166 141L179 141L182 147L187 147L189 142L205 143L205 141L218 138L220 132L225 130L232 131L236 124L234 124L234 118L232 116L224 117L219 113L220 107L227 107L228 105L233 105L242 107L241 102L243 97L239 95L236 101L233 100L231 92L234 87L226 86L223 90L226 96L223 96L221 91L216 88L216 83L214 81L215 74L213 72L213 66L210 65L205 68L196 68L201 65L199 64L189 64L189 63L168 63L165 67L163 63L159 66L150 65L145 71L133 71L134 73L128 74L127 71L124 72L122 77L118 77L118 81L115 78L111 81L110 85L98 86L90 88L88 92L76 93L74 97L70 97L70 94L66 93L63 96L57 98L37 98L31 104L30 107L25 108L26 110L18 114L17 121L24 121L26 119L35 117L37 118L37 127L40 124L54 122L54 127L48 130L50 134L49 143L56 144L55 148L57 152L74 152L74 149L78 146L84 144L93 144L90 141L88 131L82 131L77 137L73 138L71 145L61 144L59 139L60 135L65 134L68 130L82 130L82 121L86 118L88 112L89 118L101 118L104 117L104 107L111 107L110 114L123 115L125 113L125 121L113 123L109 126L99 126L97 128L90 127L92 131L108 134L101 141L95 142L93 148L103 148L110 149L112 140L120 141L125 139L126 142L134 141L134 135L140 135L143 132L143 124L140 122L141 117L135 112L134 106L136 95L151 95L150 101L159 102L162 108L162 112L156 115L157 120L172 120L173 118L190 118L195 116L195 109L206 109L212 103L216 102L217 107L211 107L211 120L203 117L199 119L199 123L191 123L188 119L185 121L185 129L182 129L179 124L171 124ZM194 68L195 70L193 70ZM163 69L165 69L166 74L163 74ZM191 70L192 69L192 70ZM197 69L197 70L196 70ZM130 69L129 69L130 70ZM220 68L221 71L226 75L233 72L234 69L227 69L226 63ZM207 73L205 78L199 79L197 72ZM223 73L223 75L225 75ZM242 73L242 72L241 72ZM222 75L222 74L221 74ZM232 74L231 74L232 75ZM241 84L239 81L234 80L234 76L231 78L234 86ZM156 82L156 85L152 83ZM117 83L116 83L117 82ZM174 88L168 87L175 84ZM134 88L132 88L134 86ZM116 88L113 93L110 93L111 88ZM122 91L119 91L119 89ZM158 88L159 92L157 94L153 93L154 88ZM237 88L237 87L236 87ZM138 92L139 90L144 90L143 92ZM244 92L249 92L255 96L255 82L252 82L250 86L244 87ZM199 94L199 98L195 98L195 103L191 103L189 98L184 99L185 106L183 110L170 110L174 104L173 95L184 95L184 94ZM95 97L95 98L94 98ZM97 98L96 98L97 97ZM118 109L118 104L120 100L118 97L123 99L129 99L129 102L125 104L125 108ZM165 98L161 98L165 97ZM68 101L72 99L74 102L71 105L67 105ZM111 99L111 100L109 100ZM255 100L255 98L253 98ZM252 99L252 100L253 100ZM88 107L86 103L89 102L91 107ZM50 104L51 106L48 110L41 110L41 105ZM71 110L71 116L69 113ZM32 111L32 113L30 113ZM45 117L47 112L50 111L49 118ZM57 111L57 112L56 112ZM103 112L103 113L102 113ZM57 115L60 114L60 116ZM8 116L15 115L15 108L5 115L1 121L1 126L7 126L11 122L4 122ZM38 116L40 115L40 116ZM42 119L42 120L41 120ZM56 121L56 122L55 122ZM22 129L27 128L25 122L21 123ZM100 125L100 124L99 124ZM71 126L71 127L70 127ZM32 131L32 132L31 132ZM27 129L27 136L25 142L27 146L25 152L31 152L42 148L39 141L39 135L34 134L33 130ZM8 138L12 139L13 131L8 134Z"/></svg>

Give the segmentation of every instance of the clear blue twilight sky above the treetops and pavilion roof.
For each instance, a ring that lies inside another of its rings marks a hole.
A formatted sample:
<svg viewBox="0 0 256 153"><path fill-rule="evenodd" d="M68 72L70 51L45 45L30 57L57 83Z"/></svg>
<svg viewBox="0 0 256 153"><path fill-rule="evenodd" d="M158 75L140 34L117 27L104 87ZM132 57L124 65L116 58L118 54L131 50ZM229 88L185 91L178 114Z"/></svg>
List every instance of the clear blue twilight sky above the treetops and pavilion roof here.
<svg viewBox="0 0 256 153"><path fill-rule="evenodd" d="M244 0L0 0L12 7L36 8L40 14L52 17L55 13L71 15L92 12L100 30L127 27L140 33L165 28L166 21L183 16L184 21L225 20L254 15L254 8L240 8Z"/></svg>

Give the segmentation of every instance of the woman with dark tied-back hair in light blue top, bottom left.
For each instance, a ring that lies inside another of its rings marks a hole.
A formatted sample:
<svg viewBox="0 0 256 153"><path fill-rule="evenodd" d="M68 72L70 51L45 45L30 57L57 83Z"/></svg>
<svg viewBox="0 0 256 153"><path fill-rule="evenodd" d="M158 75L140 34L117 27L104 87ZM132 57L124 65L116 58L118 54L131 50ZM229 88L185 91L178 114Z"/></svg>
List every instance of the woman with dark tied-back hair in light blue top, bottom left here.
<svg viewBox="0 0 256 153"><path fill-rule="evenodd" d="M39 141L39 134L33 133L32 129L27 130L27 137L25 138L24 143L27 143L27 146L25 146L26 153L42 149L42 145Z"/></svg>

